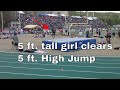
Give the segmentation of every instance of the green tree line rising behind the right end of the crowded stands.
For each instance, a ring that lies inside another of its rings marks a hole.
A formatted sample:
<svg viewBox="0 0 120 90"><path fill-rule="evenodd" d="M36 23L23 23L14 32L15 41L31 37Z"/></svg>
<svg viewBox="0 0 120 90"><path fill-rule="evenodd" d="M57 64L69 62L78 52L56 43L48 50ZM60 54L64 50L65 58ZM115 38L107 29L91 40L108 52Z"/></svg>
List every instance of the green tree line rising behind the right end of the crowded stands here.
<svg viewBox="0 0 120 90"><path fill-rule="evenodd" d="M69 11L70 16L87 16L87 12ZM120 13L98 13L88 12L88 16L97 17L102 22L107 23L110 26L120 24Z"/></svg>

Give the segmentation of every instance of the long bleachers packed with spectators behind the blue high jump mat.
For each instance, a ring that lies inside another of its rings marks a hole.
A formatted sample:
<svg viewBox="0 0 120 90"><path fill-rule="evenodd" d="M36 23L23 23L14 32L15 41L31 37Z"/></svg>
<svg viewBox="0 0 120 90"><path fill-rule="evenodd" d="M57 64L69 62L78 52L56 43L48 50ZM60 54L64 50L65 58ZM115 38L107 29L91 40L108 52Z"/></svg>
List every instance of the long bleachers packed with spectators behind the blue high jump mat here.
<svg viewBox="0 0 120 90"><path fill-rule="evenodd" d="M45 14L41 15L32 15L30 13L26 13L24 15L21 15L21 22L22 27L28 24L38 24L37 22L33 21L33 18L38 20L41 23L48 24L49 28L54 29L63 29L65 26L65 17L64 16L49 16ZM73 16L67 16L66 17L67 23L86 23L87 17L73 17ZM108 28L109 25L106 23L103 23L101 20L97 18L92 18L88 20L88 24L91 25L91 28Z"/></svg>

